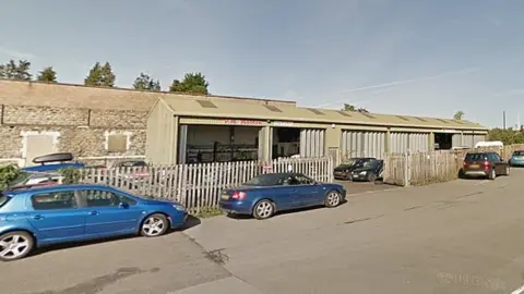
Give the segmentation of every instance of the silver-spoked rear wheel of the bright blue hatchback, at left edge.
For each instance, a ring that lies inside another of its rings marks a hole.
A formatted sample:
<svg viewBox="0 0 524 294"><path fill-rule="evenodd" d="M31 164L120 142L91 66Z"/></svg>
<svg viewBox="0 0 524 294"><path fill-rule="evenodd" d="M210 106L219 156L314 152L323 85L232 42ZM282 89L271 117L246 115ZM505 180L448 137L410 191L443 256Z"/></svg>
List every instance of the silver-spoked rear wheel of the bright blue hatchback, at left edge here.
<svg viewBox="0 0 524 294"><path fill-rule="evenodd" d="M31 253L35 241L27 232L14 231L0 235L0 260L11 261Z"/></svg>

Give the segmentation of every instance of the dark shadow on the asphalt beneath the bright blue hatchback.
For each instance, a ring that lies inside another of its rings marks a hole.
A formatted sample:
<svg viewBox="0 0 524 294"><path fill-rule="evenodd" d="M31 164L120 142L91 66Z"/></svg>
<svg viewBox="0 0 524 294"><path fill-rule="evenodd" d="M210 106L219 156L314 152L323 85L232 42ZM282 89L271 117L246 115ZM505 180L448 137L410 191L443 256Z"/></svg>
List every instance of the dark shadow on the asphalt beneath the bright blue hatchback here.
<svg viewBox="0 0 524 294"><path fill-rule="evenodd" d="M194 226L199 225L200 223L201 223L201 220L199 218L190 215L188 217L188 219L186 220L186 223L181 228L169 230L164 235L158 236L158 237L165 237L165 236L170 235L172 233L183 232L186 230L189 230L191 228L194 228ZM116 242L116 241L121 241L121 240L131 240L131 238L135 238L135 237L142 237L142 236L129 234L129 235L119 235L119 236L114 236L114 237L88 240L88 241L82 241L82 242L79 241L79 242L60 243L60 244L56 244L56 245L45 246L45 247L41 247L41 248L36 248L31 254L29 257L43 255L43 254L46 254L46 253L49 253L49 252L56 252L56 250L74 248L74 247L88 246L88 245L94 245L94 244L99 244L99 243Z"/></svg>

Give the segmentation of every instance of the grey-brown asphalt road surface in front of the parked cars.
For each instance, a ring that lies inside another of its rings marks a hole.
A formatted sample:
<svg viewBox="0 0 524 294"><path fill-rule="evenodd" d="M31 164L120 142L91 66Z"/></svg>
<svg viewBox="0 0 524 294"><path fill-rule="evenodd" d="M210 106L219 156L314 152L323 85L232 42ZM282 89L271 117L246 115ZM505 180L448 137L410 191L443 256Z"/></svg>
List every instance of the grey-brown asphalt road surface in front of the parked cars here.
<svg viewBox="0 0 524 294"><path fill-rule="evenodd" d="M0 293L512 293L524 284L524 170L353 195L265 221L0 264ZM196 223L195 223L196 224Z"/></svg>

